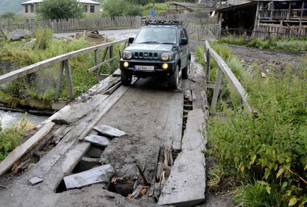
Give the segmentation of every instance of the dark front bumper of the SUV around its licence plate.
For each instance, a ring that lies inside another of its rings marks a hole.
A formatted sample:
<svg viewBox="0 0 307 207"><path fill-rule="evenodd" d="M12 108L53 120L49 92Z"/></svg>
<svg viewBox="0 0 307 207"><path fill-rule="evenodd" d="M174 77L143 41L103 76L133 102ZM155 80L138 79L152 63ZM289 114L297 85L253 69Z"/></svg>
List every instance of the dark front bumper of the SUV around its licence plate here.
<svg viewBox="0 0 307 207"><path fill-rule="evenodd" d="M124 62L128 62L128 67L124 67ZM162 68L162 64L167 63L167 69ZM166 76L167 74L173 74L176 70L177 61L160 61L160 60L139 60L139 59L131 59L124 60L120 59L120 70L130 71L132 75L140 76L140 77L156 77L156 76ZM143 66L153 66L154 70L136 70L135 65L143 65Z"/></svg>

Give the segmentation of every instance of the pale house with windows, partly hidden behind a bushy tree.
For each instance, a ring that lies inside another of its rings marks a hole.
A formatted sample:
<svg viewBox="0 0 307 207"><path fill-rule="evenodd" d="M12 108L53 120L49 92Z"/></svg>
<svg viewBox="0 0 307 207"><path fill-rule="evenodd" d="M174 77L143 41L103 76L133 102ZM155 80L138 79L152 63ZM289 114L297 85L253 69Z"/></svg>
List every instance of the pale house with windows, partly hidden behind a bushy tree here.
<svg viewBox="0 0 307 207"><path fill-rule="evenodd" d="M29 0L22 5L22 16L28 19L35 19L38 17L38 14L35 12L36 6L38 3L42 2L43 0ZM86 15L100 15L100 4L99 2L93 0L78 0L78 2L82 3L83 6L87 7Z"/></svg>

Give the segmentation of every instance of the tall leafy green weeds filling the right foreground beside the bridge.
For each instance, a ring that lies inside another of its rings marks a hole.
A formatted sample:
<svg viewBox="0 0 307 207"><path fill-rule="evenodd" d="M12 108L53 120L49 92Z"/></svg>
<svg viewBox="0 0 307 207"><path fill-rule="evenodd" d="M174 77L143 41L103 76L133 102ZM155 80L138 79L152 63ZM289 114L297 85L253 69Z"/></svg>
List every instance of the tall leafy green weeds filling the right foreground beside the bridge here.
<svg viewBox="0 0 307 207"><path fill-rule="evenodd" d="M229 64L231 55L221 56ZM293 73L290 65L283 71L272 70L265 79L258 71L239 71L241 77L235 75L258 113L252 116L242 110L229 88L233 107L221 102L226 118L211 117L206 126L211 147L207 152L218 163L208 174L221 178L218 172L226 172L241 182L233 187L238 206L303 207L307 204L307 56L302 57L299 73ZM216 172L218 168L223 170Z"/></svg>

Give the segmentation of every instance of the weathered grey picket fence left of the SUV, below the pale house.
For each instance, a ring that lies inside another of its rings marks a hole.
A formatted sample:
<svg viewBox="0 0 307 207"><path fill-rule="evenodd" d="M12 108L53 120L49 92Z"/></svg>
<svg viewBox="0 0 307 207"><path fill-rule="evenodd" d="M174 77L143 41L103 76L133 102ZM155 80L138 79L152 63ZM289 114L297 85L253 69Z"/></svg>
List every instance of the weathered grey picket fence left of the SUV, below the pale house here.
<svg viewBox="0 0 307 207"><path fill-rule="evenodd" d="M1 23L1 22L0 22ZM141 16L115 16L101 18L84 18L84 19L60 19L60 20L24 20L23 22L6 21L2 22L2 27L7 32L12 32L16 29L27 29L30 32L35 32L38 28L49 27L51 32L65 32L78 30L93 30L105 28L139 28L142 26Z"/></svg>

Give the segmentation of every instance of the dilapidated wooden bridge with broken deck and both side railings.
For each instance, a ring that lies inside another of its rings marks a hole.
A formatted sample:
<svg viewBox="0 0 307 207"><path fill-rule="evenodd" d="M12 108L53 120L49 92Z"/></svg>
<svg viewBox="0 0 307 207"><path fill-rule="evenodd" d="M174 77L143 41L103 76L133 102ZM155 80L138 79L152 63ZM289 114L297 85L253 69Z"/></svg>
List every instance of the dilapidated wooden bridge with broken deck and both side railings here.
<svg viewBox="0 0 307 207"><path fill-rule="evenodd" d="M73 101L45 120L35 135L0 163L2 176L12 167L34 165L10 189L5 189L8 193L2 194L3 206L105 206L116 205L116 201L125 202L124 206L194 206L205 200L206 132L201 134L198 130L203 130L208 122L207 88L214 88L211 113L215 112L222 73L233 83L245 107L254 112L247 103L247 93L207 42L206 72L193 55L189 79L182 79L176 90L168 90L167 80L157 78L134 79L131 86L121 86L119 69L99 81L102 64L115 58L112 46L125 42L120 40L59 55L0 77L3 84L61 62L56 100L64 68L66 76L71 77L69 58L95 52L95 66L88 71L96 71L98 83L74 99L72 81L67 78ZM105 50L102 63L98 63L97 51L105 48L109 49L110 59L104 59ZM208 78L210 55L218 65L216 83ZM101 137L103 132L98 128L102 126L126 135L106 136L104 144L86 141L89 137ZM51 150L43 156L44 148ZM32 155L41 156L35 164L31 164ZM98 169L100 174L95 176ZM65 179L69 180L67 177L71 175L77 176L71 182L78 188L95 183L93 180L99 183L87 187L96 203L80 198L88 196L83 189L67 190ZM137 203L140 197L142 203ZM115 198L113 203L110 198Z"/></svg>

